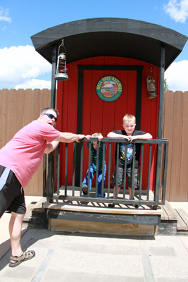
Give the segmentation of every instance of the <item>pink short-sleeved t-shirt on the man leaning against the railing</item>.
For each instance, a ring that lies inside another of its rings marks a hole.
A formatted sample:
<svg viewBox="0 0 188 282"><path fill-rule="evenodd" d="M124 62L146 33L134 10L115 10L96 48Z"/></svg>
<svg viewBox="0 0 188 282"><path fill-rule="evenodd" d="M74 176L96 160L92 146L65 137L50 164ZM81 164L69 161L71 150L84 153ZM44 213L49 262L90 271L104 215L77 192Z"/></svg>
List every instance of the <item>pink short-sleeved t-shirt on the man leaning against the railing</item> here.
<svg viewBox="0 0 188 282"><path fill-rule="evenodd" d="M46 143L59 135L60 132L49 123L32 121L0 150L0 165L11 169L25 187L41 164Z"/></svg>

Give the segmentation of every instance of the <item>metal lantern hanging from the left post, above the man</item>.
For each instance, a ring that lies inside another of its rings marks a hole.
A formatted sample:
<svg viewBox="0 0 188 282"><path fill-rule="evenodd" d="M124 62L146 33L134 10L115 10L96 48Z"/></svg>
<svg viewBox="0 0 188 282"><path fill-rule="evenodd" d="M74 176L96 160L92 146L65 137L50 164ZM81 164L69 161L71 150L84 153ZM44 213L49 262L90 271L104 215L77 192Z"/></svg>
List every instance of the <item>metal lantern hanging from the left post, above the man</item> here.
<svg viewBox="0 0 188 282"><path fill-rule="evenodd" d="M63 49L63 50L62 50ZM66 73L66 50L64 46L64 39L58 47L58 60L56 66L55 80L68 80L68 74Z"/></svg>

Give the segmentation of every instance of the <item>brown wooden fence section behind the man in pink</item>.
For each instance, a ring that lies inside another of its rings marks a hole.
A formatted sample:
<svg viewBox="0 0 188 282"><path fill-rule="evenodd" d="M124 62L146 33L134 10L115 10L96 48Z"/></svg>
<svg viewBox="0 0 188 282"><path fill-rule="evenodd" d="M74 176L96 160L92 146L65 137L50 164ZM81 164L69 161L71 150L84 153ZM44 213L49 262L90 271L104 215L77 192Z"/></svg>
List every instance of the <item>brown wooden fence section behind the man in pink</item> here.
<svg viewBox="0 0 188 282"><path fill-rule="evenodd" d="M51 90L0 90L0 148L51 104ZM20 164L21 165L21 164ZM43 166L25 187L25 195L42 196Z"/></svg>

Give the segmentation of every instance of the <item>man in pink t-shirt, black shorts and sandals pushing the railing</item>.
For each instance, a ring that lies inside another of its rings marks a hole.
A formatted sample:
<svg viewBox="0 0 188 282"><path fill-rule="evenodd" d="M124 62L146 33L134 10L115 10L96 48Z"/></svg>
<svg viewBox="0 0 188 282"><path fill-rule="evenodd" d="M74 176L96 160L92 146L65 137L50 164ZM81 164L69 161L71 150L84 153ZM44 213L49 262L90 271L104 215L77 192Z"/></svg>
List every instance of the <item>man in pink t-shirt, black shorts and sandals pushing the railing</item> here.
<svg viewBox="0 0 188 282"><path fill-rule="evenodd" d="M54 125L57 116L56 109L43 109L37 120L19 130L0 149L0 218L6 210L11 212L11 267L35 257L35 251L23 252L20 245L26 212L23 188L39 168L44 153L54 151L59 142L78 142L85 137L82 134L61 133L56 130Z"/></svg>

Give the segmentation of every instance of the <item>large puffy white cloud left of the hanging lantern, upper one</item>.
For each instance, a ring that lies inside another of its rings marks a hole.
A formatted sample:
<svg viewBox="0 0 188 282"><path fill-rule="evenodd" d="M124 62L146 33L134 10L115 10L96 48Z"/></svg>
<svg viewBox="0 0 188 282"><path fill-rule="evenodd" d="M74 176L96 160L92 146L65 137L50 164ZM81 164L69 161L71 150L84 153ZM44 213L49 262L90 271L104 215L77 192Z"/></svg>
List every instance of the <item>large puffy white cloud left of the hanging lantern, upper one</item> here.
<svg viewBox="0 0 188 282"><path fill-rule="evenodd" d="M0 88L33 85L39 75L51 73L51 64L28 45L0 49L0 61Z"/></svg>

